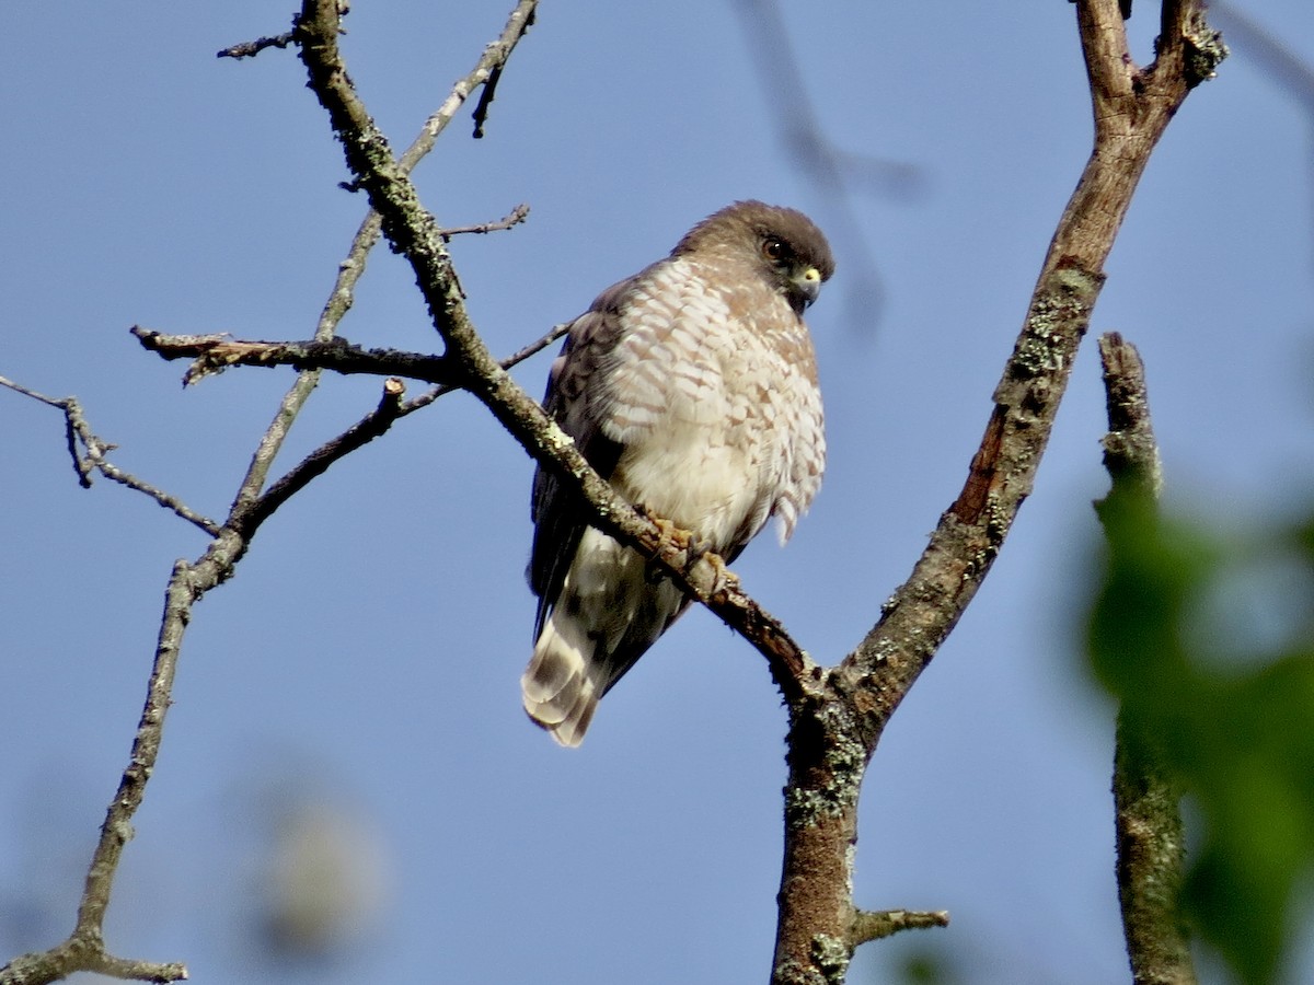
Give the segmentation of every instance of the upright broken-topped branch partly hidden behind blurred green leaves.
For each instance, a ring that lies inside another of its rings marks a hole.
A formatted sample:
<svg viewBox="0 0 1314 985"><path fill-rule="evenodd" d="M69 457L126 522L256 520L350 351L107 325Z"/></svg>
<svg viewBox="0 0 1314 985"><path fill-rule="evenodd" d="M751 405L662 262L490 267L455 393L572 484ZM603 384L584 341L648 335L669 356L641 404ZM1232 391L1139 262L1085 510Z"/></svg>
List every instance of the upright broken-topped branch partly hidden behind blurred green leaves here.
<svg viewBox="0 0 1314 985"><path fill-rule="evenodd" d="M1100 361L1109 415L1109 433L1101 444L1113 487L1096 510L1109 523L1118 503L1154 510L1163 470L1141 355L1121 335L1109 332L1100 336ZM1196 982L1179 911L1185 860L1179 799L1179 784L1164 767L1158 743L1133 734L1126 716L1120 714L1113 764L1118 902L1137 985Z"/></svg>

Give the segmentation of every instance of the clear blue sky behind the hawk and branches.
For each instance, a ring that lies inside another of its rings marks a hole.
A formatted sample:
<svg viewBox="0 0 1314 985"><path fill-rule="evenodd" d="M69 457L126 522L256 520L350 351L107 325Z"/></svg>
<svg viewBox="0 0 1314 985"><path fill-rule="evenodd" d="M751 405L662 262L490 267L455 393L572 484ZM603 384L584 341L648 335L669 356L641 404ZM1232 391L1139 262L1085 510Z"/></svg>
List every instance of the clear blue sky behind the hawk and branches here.
<svg viewBox="0 0 1314 985"><path fill-rule="evenodd" d="M351 72L403 146L511 3L356 7ZM1236 7L1293 45L1314 28L1306 0ZM1137 8L1146 60L1156 13ZM289 9L16 4L0 34L0 374L76 394L122 468L212 516L290 372L183 391L183 366L127 328L311 332L364 202L336 188L342 155L293 53L214 58L283 30ZM855 181L845 206L819 188L779 139L779 92L761 85L736 5L691 0L545 3L487 137L470 141L463 113L418 181L447 225L531 205L524 226L452 247L470 314L505 353L732 200L794 205L832 231L840 271L809 315L827 483L788 548L763 537L736 569L833 663L961 486L1091 126L1059 0L791 4L786 22L825 134L916 167L912 193ZM1093 324L1141 347L1168 499L1219 529L1292 511L1314 479L1314 121L1251 54L1235 46L1169 129ZM438 347L385 250L342 328ZM516 377L537 394L547 364ZM326 378L285 464L376 399L377 381ZM1126 978L1112 708L1075 647L1102 411L1092 341L1034 495L865 788L858 904L943 908L953 926L869 946L853 982L928 946L970 985ZM204 537L109 482L78 489L54 411L0 391L0 422L8 957L71 926L170 566ZM519 707L531 473L472 399L449 397L265 525L196 609L113 950L185 960L198 982L765 978L784 713L762 659L695 611L606 699L583 747L557 749ZM256 956L250 930L275 821L306 805L364 869L323 896L365 919L289 971ZM1314 947L1302 961L1314 978Z"/></svg>

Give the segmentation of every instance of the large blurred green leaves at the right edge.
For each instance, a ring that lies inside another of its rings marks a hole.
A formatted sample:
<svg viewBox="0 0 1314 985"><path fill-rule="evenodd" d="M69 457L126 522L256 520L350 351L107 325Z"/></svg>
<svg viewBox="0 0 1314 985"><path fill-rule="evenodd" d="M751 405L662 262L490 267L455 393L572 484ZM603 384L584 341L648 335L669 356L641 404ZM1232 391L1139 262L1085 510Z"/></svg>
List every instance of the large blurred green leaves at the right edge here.
<svg viewBox="0 0 1314 985"><path fill-rule="evenodd" d="M1247 985L1276 981L1314 871L1314 512L1226 537L1110 495L1088 626L1127 741L1181 784L1183 913Z"/></svg>

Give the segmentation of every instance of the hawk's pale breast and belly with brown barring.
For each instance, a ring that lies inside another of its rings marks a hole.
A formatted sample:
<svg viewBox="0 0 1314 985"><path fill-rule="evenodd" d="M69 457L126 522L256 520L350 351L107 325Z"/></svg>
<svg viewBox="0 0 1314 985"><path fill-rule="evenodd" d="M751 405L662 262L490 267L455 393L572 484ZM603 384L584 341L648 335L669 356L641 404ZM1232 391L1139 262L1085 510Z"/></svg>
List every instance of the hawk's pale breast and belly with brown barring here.
<svg viewBox="0 0 1314 985"><path fill-rule="evenodd" d="M784 298L756 274L674 259L633 285L620 317L598 366L602 428L623 448L612 485L721 553L778 506L792 527L815 492L798 465L820 437L820 398Z"/></svg>

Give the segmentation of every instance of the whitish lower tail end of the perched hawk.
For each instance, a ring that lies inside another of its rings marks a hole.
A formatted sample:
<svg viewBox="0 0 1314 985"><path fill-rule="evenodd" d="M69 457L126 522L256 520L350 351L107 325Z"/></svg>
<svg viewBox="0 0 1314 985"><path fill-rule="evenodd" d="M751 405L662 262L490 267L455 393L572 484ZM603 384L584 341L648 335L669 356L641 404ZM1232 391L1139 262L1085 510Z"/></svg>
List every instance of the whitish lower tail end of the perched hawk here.
<svg viewBox="0 0 1314 985"><path fill-rule="evenodd" d="M557 625L553 612L543 624L533 658L520 678L524 711L562 746L578 746L602 697L603 682L590 659L595 644L577 621Z"/></svg>

